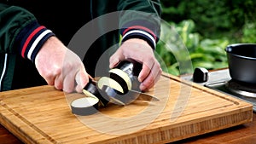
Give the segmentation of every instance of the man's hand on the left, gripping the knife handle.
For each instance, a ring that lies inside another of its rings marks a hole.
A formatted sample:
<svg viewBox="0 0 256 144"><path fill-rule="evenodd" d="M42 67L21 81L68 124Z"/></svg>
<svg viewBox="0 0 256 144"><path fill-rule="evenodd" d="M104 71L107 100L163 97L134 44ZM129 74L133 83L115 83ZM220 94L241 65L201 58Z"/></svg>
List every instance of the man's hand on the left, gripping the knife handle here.
<svg viewBox="0 0 256 144"><path fill-rule="evenodd" d="M49 37L39 50L35 65L49 85L67 93L82 92L88 74L79 56L67 49L57 37Z"/></svg>

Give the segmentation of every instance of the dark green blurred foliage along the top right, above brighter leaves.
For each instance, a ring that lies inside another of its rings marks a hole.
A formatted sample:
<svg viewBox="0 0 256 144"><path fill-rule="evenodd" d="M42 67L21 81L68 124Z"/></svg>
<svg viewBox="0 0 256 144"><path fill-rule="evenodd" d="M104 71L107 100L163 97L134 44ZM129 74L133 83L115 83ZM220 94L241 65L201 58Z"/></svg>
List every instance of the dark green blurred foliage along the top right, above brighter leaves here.
<svg viewBox="0 0 256 144"><path fill-rule="evenodd" d="M242 28L256 22L255 0L161 0L161 3L163 20L175 23L193 20L195 32L202 37L228 37L232 43L241 43Z"/></svg>

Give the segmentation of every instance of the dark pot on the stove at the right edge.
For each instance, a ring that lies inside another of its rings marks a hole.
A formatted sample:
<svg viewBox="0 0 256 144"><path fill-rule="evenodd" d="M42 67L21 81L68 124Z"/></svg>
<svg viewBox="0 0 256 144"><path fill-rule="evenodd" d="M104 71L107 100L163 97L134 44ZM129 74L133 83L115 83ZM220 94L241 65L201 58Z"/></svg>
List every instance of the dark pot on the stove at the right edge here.
<svg viewBox="0 0 256 144"><path fill-rule="evenodd" d="M226 47L230 77L256 84L256 43L236 43Z"/></svg>

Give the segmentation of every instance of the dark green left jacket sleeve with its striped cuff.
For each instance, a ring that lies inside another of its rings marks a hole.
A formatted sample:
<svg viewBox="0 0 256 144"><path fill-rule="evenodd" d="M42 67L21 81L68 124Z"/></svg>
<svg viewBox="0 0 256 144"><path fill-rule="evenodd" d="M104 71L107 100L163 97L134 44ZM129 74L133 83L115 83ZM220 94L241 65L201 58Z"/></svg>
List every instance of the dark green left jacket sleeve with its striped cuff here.
<svg viewBox="0 0 256 144"><path fill-rule="evenodd" d="M17 6L0 3L0 53L34 60L48 37L54 34L40 26L35 16Z"/></svg>

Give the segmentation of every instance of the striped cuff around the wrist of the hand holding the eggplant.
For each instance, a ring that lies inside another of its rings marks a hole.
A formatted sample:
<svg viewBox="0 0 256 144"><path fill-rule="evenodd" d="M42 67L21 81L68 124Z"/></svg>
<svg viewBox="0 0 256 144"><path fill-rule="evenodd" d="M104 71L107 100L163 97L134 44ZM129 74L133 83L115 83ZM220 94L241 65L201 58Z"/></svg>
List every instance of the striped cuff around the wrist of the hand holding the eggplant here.
<svg viewBox="0 0 256 144"><path fill-rule="evenodd" d="M128 27L122 32L122 36L122 42L130 38L140 38L148 42L152 49L156 46L157 37L154 35L154 32L143 26Z"/></svg>

